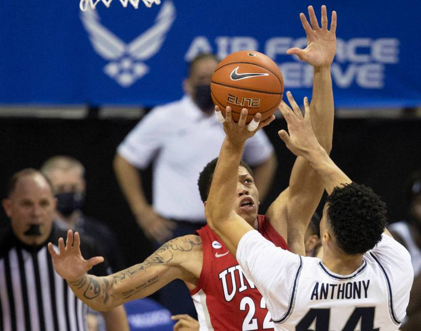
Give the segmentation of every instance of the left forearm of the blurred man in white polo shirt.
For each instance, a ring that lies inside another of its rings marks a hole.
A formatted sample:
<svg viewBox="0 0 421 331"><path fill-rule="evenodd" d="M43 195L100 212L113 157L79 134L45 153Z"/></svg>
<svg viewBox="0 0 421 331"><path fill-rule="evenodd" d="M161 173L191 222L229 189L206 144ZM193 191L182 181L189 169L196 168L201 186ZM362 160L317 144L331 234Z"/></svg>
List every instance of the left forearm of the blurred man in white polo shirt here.
<svg viewBox="0 0 421 331"><path fill-rule="evenodd" d="M133 214L141 214L149 204L143 191L139 171L124 157L117 154L114 158L114 172Z"/></svg>

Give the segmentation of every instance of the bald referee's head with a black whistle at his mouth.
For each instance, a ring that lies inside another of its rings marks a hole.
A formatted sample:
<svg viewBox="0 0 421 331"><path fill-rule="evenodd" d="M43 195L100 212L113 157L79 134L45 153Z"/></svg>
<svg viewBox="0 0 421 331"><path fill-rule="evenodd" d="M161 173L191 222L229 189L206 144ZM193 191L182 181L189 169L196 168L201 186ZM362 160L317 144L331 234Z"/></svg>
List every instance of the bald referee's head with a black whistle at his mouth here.
<svg viewBox="0 0 421 331"><path fill-rule="evenodd" d="M50 235L56 200L44 177L39 174L18 179L15 190L3 201L13 233L26 245L40 245ZM37 227L38 235L30 235Z"/></svg>

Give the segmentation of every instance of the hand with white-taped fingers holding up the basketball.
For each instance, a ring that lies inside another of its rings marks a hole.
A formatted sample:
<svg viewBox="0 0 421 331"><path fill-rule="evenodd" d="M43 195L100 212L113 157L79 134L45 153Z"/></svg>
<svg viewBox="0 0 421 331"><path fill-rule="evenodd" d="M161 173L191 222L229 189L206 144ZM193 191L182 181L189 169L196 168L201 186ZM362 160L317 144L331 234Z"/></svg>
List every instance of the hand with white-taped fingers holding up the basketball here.
<svg viewBox="0 0 421 331"><path fill-rule="evenodd" d="M260 121L261 114L256 113L253 120L246 125L246 119L248 110L243 108L241 110L240 118L238 123L235 123L232 119L231 107L225 109L225 118L223 117L218 106L215 106L215 114L220 122L224 124L224 131L228 140L234 144L239 145L244 143L247 139L253 137L255 133L262 127L265 127L275 119L275 115L270 115L263 121Z"/></svg>

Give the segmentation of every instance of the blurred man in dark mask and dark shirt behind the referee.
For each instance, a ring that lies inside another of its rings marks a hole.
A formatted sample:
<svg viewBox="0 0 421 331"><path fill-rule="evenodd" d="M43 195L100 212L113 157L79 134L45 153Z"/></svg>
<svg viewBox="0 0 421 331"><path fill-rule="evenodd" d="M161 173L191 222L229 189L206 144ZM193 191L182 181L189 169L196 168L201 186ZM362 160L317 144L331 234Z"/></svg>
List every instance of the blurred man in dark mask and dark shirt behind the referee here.
<svg viewBox="0 0 421 331"><path fill-rule="evenodd" d="M41 172L54 188L57 198L57 223L66 229L73 229L93 238L112 272L126 268L112 230L103 222L86 216L81 210L86 191L83 164L73 157L57 155L43 163ZM108 273L112 273L111 271Z"/></svg>

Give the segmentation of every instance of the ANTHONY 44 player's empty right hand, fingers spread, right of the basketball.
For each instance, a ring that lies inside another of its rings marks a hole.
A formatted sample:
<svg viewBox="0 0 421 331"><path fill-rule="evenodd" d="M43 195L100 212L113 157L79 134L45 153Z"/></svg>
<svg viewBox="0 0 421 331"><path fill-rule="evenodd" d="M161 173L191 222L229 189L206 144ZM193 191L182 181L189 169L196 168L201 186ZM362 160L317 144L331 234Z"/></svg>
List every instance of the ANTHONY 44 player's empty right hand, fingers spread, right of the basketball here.
<svg viewBox="0 0 421 331"><path fill-rule="evenodd" d="M307 97L304 98L305 117L303 117L291 92L287 92L287 97L292 109L282 102L279 110L288 124L289 135L285 130L280 130L278 135L292 153L306 157L309 152L322 148L311 127L309 101Z"/></svg>

